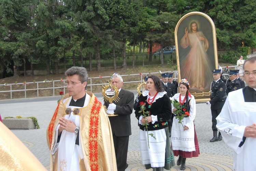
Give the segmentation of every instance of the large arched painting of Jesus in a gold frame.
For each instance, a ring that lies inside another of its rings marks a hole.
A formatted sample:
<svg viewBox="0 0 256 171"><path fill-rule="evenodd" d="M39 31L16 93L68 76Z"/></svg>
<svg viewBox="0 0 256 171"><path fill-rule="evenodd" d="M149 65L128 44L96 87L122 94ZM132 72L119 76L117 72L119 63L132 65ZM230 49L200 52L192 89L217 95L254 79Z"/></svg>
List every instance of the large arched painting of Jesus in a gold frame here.
<svg viewBox="0 0 256 171"><path fill-rule="evenodd" d="M216 30L212 19L201 12L184 15L175 28L179 80L186 78L197 102L210 100L212 71L218 68Z"/></svg>

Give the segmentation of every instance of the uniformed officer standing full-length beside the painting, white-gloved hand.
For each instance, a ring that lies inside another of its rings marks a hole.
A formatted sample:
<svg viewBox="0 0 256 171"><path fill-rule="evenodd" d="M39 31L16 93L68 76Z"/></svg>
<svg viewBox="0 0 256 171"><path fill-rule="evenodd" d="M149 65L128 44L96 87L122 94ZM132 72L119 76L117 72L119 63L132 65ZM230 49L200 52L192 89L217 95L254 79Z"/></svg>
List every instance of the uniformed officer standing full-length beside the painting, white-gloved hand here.
<svg viewBox="0 0 256 171"><path fill-rule="evenodd" d="M221 141L222 136L219 132L217 137L217 128L216 128L216 117L221 113L221 109L226 100L225 89L226 85L221 80L221 69L214 69L212 71L214 81L211 83L211 100L206 102L207 105L211 105L211 112L212 112L212 130L213 130L213 138L210 142Z"/></svg>

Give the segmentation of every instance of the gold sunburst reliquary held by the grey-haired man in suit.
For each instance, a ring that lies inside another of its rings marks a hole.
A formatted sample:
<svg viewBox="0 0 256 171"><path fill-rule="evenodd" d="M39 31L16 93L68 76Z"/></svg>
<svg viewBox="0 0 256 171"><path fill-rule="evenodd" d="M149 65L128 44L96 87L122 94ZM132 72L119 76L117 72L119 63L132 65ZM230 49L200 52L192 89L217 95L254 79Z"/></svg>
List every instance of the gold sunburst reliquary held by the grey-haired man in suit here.
<svg viewBox="0 0 256 171"><path fill-rule="evenodd" d="M111 87L111 89L108 89L109 86ZM113 90L113 91L108 91L108 90ZM104 102L109 101L109 103L113 103L113 101L115 101L116 103L120 100L120 98L118 97L119 92L118 92L118 88L116 86L113 86L110 81L108 85L102 86L102 96L104 98ZM109 97L111 96L111 97ZM118 114L109 114L107 113L108 116L117 116Z"/></svg>

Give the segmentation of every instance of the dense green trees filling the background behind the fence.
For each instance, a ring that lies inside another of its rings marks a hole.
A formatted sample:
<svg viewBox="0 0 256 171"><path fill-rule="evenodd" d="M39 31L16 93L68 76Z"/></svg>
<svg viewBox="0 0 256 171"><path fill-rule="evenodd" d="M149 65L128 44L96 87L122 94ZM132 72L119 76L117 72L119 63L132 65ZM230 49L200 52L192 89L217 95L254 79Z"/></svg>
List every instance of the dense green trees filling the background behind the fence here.
<svg viewBox="0 0 256 171"><path fill-rule="evenodd" d="M88 59L90 53L94 59L99 54L95 60L100 66L102 59L111 58L104 55L112 53L113 47L122 51L122 44L174 45L177 22L193 11L212 18L217 48L226 51L220 56L235 63L237 56L245 57L256 47L255 8L255 0L2 0L0 72L18 72L13 65L29 61L46 66L49 74L52 63L62 62L64 53L70 56L73 51L78 58ZM148 59L152 62L152 57Z"/></svg>

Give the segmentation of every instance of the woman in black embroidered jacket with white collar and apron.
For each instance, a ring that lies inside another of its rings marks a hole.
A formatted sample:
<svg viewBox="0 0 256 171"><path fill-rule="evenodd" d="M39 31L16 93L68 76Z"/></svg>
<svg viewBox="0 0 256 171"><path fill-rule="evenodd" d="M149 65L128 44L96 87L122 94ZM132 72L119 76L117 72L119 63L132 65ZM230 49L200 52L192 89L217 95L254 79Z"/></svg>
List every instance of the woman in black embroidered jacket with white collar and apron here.
<svg viewBox="0 0 256 171"><path fill-rule="evenodd" d="M135 115L139 120L140 153L145 168L170 170L175 165L167 123L171 118L171 100L157 76L148 77L147 91L139 96Z"/></svg>

